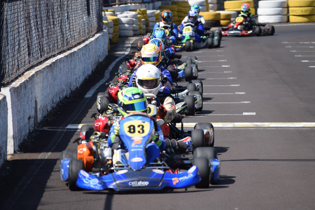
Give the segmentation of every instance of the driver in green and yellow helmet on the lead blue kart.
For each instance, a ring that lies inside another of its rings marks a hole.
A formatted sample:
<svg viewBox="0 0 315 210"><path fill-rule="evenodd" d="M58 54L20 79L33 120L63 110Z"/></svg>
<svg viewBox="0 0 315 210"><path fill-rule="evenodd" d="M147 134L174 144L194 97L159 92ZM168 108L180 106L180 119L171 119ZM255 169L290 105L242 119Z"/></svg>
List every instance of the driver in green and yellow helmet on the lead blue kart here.
<svg viewBox="0 0 315 210"><path fill-rule="evenodd" d="M150 83L150 82L149 82ZM147 83L146 85L150 86L153 84ZM125 116L129 113L142 112L146 113L148 110L146 96L143 94L143 91L139 88L125 88L118 92L117 96L117 105L119 112ZM122 117L123 117L122 116ZM125 157L128 157L126 152L126 145L119 138L119 122L122 119L120 117L112 125L109 131L109 141L107 141L108 146L117 151L113 155L113 163L121 164L124 161L122 160L122 155L125 154ZM150 117L148 115L148 117ZM152 142L146 146L146 164L154 161L159 161L160 152L165 148L165 140L163 136L162 129L157 125L158 130L152 135ZM118 142L116 142L118 141ZM128 158L127 158L128 159Z"/></svg>

